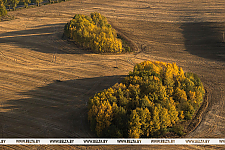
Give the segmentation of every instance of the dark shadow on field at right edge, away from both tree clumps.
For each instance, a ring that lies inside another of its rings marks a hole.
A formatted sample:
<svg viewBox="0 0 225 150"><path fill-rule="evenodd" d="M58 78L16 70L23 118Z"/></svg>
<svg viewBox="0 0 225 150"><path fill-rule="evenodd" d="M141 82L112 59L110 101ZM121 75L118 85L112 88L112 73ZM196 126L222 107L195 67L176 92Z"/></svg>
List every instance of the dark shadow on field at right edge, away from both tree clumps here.
<svg viewBox="0 0 225 150"><path fill-rule="evenodd" d="M184 23L181 29L189 53L211 60L225 61L225 23Z"/></svg>

